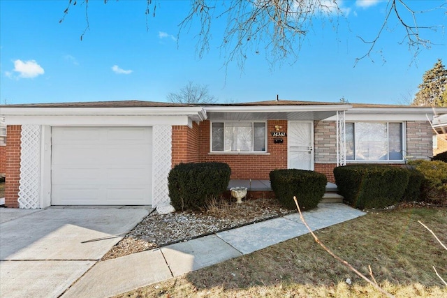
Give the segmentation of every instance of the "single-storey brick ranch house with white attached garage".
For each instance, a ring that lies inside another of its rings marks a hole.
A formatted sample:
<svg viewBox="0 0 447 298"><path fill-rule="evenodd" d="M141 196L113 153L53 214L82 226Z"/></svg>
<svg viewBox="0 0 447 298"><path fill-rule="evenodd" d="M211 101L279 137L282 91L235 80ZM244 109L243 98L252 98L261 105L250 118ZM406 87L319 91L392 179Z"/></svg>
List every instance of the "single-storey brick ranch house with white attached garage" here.
<svg viewBox="0 0 447 298"><path fill-rule="evenodd" d="M6 207L152 205L163 213L173 211L167 177L178 163L228 163L231 179L299 168L334 181L337 165L432 156L427 107L129 100L3 105L1 114Z"/></svg>

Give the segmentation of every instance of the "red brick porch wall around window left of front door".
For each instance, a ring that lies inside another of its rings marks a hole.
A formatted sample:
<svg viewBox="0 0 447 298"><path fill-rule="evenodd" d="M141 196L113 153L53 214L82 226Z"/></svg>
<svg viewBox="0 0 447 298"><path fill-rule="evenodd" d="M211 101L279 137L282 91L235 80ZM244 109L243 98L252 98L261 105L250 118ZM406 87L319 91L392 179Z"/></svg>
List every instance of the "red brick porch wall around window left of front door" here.
<svg viewBox="0 0 447 298"><path fill-rule="evenodd" d="M271 170L287 168L287 137L283 137L284 143L274 144L270 132L275 131L275 125L287 131L286 120L268 121L268 154L210 154L210 121L203 121L198 126L198 161L228 163L231 179L270 179Z"/></svg>

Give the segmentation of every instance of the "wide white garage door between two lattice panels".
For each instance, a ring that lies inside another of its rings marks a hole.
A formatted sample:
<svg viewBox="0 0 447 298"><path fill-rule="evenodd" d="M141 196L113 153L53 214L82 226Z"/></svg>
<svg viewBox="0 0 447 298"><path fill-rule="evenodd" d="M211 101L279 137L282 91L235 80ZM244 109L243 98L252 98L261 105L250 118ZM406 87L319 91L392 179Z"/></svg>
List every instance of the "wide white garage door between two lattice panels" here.
<svg viewBox="0 0 447 298"><path fill-rule="evenodd" d="M53 205L152 203L152 128L53 127Z"/></svg>

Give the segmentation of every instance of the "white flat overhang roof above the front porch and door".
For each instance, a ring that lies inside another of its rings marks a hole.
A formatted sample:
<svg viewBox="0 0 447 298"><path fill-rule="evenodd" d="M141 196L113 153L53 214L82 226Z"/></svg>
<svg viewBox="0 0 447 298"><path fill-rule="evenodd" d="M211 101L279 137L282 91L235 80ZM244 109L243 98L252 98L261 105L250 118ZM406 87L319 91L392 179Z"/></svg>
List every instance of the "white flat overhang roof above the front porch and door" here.
<svg viewBox="0 0 447 298"><path fill-rule="evenodd" d="M265 106L208 106L207 119L212 121L314 121L336 116L352 105L265 105Z"/></svg>

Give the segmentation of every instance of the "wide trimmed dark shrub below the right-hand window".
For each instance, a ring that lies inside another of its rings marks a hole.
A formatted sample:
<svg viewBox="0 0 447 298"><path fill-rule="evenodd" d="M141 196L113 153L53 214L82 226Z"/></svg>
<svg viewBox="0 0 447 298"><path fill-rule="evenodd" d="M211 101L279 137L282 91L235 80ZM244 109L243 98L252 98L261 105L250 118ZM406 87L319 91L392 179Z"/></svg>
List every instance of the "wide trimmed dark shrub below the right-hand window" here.
<svg viewBox="0 0 447 298"><path fill-rule="evenodd" d="M409 171L390 165L345 165L335 167L339 193L351 206L384 208L402 200Z"/></svg>

